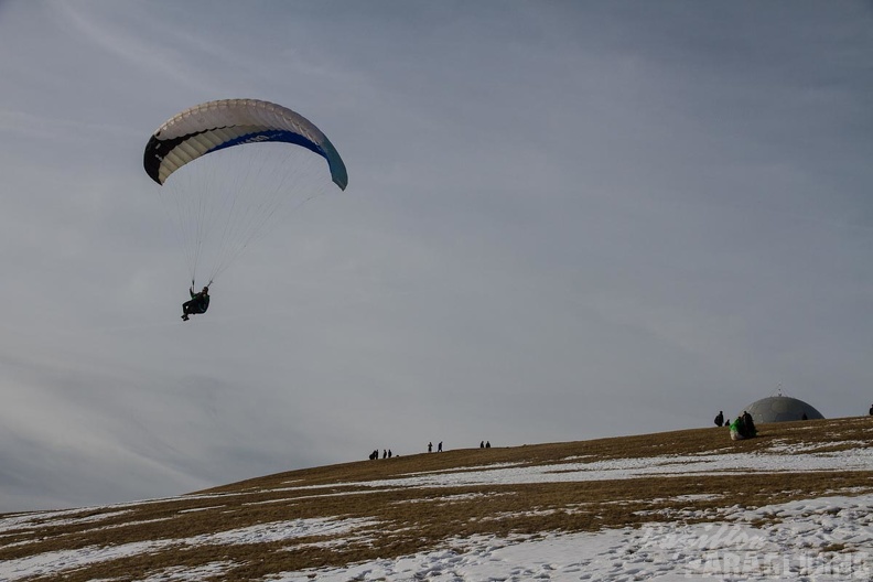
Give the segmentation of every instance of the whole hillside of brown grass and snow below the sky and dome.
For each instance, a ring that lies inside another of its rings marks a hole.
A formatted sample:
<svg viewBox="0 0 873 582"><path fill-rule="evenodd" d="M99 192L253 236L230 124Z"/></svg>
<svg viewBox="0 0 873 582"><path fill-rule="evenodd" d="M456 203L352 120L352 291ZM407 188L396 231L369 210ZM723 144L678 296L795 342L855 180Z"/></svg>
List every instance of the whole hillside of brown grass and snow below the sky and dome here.
<svg viewBox="0 0 873 582"><path fill-rule="evenodd" d="M762 579L870 574L871 434L852 418L456 450L8 514L0 580L745 580L726 560L750 557Z"/></svg>

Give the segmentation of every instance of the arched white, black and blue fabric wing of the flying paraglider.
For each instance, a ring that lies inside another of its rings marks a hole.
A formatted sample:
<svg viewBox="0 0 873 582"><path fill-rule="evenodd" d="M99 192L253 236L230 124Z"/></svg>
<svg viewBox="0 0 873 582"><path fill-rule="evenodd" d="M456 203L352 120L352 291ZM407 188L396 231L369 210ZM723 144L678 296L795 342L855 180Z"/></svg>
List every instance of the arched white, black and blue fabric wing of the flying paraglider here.
<svg viewBox="0 0 873 582"><path fill-rule="evenodd" d="M310 120L257 99L222 99L194 106L162 125L143 154L146 173L159 184L188 162L244 143L281 141L306 148L327 161L331 179L345 190L348 174L331 140Z"/></svg>

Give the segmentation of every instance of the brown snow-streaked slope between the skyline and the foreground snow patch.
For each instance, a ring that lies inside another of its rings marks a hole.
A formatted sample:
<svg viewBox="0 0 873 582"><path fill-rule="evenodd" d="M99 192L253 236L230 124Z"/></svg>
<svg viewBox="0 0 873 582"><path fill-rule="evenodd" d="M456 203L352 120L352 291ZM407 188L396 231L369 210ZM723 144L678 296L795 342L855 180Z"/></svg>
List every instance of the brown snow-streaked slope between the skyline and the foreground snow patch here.
<svg viewBox="0 0 873 582"><path fill-rule="evenodd" d="M66 563L31 568L28 580L130 581L215 563L222 579L255 580L476 535L636 526L653 514L716 519L724 507L873 491L871 436L873 419L817 420L740 442L712 428L291 471L177 498L2 516L0 561Z"/></svg>

